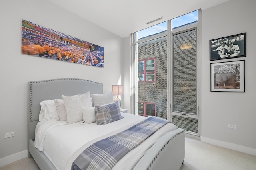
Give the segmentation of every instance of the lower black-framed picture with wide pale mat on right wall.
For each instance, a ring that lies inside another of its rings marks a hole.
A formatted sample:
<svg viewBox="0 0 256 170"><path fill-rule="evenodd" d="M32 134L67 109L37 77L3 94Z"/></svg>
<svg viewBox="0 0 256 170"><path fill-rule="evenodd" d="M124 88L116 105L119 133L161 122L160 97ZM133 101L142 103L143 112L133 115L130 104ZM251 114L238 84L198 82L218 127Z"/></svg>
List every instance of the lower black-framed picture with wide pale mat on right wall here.
<svg viewBox="0 0 256 170"><path fill-rule="evenodd" d="M211 64L211 92L245 92L244 60Z"/></svg>

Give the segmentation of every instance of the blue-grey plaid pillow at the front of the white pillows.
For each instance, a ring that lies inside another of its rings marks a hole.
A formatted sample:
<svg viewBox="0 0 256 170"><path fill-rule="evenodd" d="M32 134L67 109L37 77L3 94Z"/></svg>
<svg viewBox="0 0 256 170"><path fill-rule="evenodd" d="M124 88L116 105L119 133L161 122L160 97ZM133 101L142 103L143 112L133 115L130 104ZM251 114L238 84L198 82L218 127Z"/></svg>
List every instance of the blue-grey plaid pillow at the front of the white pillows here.
<svg viewBox="0 0 256 170"><path fill-rule="evenodd" d="M95 114L97 125L106 125L123 118L118 101L107 105L95 106Z"/></svg>

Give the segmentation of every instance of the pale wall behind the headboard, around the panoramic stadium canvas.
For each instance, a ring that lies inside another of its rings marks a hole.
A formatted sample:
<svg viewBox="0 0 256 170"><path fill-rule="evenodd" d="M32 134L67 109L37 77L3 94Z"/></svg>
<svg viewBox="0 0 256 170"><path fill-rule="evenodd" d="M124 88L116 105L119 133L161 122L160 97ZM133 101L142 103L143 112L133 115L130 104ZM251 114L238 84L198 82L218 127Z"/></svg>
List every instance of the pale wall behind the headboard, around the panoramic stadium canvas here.
<svg viewBox="0 0 256 170"><path fill-rule="evenodd" d="M22 19L104 47L104 68L21 54ZM122 79L122 38L45 0L1 0L0 22L1 166L3 158L28 149L28 81L82 78L101 82L103 92L110 92ZM4 139L13 131L15 137Z"/></svg>

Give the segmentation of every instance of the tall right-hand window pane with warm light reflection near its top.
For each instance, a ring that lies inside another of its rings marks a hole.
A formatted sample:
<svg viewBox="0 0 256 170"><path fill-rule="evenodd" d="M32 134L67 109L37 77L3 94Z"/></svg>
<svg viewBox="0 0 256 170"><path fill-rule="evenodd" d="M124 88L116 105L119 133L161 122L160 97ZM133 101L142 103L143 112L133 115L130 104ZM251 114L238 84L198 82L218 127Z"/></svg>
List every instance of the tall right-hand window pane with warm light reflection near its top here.
<svg viewBox="0 0 256 170"><path fill-rule="evenodd" d="M184 39L186 41L184 41ZM196 114L196 29L173 35L173 111Z"/></svg>

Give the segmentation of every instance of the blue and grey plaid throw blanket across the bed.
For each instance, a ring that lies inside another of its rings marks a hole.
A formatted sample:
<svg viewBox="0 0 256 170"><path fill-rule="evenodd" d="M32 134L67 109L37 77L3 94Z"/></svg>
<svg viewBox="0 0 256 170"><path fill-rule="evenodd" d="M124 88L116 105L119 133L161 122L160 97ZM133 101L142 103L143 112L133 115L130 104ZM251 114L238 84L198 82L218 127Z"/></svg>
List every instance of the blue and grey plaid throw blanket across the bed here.
<svg viewBox="0 0 256 170"><path fill-rule="evenodd" d="M72 170L110 170L126 153L164 126L167 121L148 117L116 135L87 147L72 163Z"/></svg>

